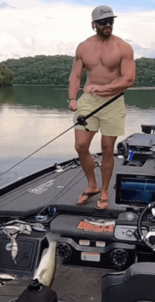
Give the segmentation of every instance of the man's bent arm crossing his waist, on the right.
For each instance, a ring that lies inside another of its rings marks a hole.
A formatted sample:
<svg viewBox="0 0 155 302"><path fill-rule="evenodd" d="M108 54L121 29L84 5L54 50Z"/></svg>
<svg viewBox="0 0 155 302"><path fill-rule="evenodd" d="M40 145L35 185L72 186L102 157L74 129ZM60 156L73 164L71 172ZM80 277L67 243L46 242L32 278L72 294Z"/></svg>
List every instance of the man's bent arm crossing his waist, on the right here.
<svg viewBox="0 0 155 302"><path fill-rule="evenodd" d="M135 84L135 61L133 58L132 47L126 44L123 50L123 58L120 63L120 77L105 85L89 85L85 92L99 96L111 96L118 94L124 89L132 87Z"/></svg>

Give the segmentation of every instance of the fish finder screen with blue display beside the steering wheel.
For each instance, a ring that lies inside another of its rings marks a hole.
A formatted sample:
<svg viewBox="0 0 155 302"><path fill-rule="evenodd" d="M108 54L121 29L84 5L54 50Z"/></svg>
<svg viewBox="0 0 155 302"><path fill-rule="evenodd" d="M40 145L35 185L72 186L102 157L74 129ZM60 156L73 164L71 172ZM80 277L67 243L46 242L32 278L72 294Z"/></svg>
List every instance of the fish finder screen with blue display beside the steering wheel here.
<svg viewBox="0 0 155 302"><path fill-rule="evenodd" d="M116 204L145 207L155 201L155 176L116 175Z"/></svg>

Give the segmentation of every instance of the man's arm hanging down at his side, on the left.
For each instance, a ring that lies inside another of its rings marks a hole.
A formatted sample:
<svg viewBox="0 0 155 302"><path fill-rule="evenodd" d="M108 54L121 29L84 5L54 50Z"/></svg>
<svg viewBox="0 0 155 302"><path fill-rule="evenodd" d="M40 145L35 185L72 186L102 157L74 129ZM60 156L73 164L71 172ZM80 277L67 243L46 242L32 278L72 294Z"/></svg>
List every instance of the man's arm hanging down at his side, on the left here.
<svg viewBox="0 0 155 302"><path fill-rule="evenodd" d="M77 110L77 92L80 89L80 81L82 78L82 74L84 72L84 64L82 62L82 54L81 54L81 46L77 47L75 60L73 62L72 72L70 73L70 84L69 84L69 98L72 99L70 101L70 111Z"/></svg>

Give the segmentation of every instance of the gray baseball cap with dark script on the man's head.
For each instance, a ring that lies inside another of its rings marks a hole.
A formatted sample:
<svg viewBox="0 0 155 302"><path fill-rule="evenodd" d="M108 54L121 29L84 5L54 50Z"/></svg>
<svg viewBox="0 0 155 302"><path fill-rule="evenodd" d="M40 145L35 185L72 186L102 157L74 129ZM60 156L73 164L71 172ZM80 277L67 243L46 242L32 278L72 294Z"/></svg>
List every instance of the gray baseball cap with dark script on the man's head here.
<svg viewBox="0 0 155 302"><path fill-rule="evenodd" d="M92 11L92 21L101 20L110 17L116 18L117 15L113 14L113 10L109 6L106 5L97 6L96 8L94 8L94 11Z"/></svg>

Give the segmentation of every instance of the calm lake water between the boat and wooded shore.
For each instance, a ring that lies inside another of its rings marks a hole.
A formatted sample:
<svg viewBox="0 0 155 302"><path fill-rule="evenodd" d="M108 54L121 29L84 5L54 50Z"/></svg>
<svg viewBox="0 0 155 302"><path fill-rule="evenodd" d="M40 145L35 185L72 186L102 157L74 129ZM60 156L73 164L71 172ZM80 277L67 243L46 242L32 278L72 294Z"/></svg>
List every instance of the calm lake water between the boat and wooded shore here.
<svg viewBox="0 0 155 302"><path fill-rule="evenodd" d="M17 85L0 88L0 174L73 126L68 110L68 87ZM125 136L142 132L140 125L155 124L155 88L125 92L128 113ZM101 151L101 134L90 151ZM66 132L41 151L0 177L0 187L54 163L77 157L74 129Z"/></svg>

